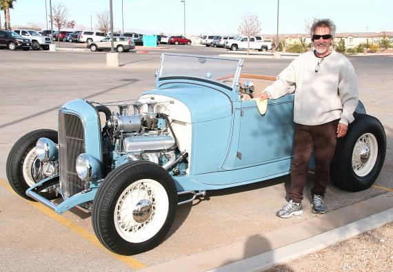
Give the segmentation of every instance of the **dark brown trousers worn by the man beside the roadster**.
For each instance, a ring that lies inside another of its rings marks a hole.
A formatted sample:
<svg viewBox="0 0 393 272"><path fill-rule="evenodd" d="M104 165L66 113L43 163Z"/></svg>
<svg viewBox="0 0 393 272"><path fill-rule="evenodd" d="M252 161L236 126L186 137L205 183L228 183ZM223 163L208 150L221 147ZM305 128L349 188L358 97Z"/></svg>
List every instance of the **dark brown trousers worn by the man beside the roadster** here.
<svg viewBox="0 0 393 272"><path fill-rule="evenodd" d="M291 185L288 198L294 202L303 200L307 182L308 165L312 150L315 158L314 188L311 192L325 194L330 180L330 163L336 148L336 130L339 120L322 125L295 126L294 160L291 168Z"/></svg>

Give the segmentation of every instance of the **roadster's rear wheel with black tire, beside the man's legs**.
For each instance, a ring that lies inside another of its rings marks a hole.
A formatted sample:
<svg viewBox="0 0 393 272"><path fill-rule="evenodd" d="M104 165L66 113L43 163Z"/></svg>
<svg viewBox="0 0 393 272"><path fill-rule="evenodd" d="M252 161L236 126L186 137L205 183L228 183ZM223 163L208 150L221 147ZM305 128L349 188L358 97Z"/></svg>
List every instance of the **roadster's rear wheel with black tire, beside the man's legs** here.
<svg viewBox="0 0 393 272"><path fill-rule="evenodd" d="M356 114L347 135L337 140L330 165L336 187L362 191L373 185L381 172L386 154L386 136L381 122L367 114Z"/></svg>

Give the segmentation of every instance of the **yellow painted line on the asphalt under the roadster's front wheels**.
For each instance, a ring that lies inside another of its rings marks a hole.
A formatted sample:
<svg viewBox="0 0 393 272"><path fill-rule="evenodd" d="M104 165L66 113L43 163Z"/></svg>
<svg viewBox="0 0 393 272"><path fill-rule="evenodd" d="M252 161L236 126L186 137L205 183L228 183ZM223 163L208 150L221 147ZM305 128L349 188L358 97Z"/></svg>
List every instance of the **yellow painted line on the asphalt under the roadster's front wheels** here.
<svg viewBox="0 0 393 272"><path fill-rule="evenodd" d="M14 193L15 196L18 196L17 193L14 192L14 190L10 187L8 182L6 182L5 180L1 180L0 179L0 185L1 185L1 187L7 189L11 193ZM20 198L20 196L18 196L18 197ZM42 205L41 203L39 203L39 202L32 202L32 201L29 201L29 200L26 200L26 203L29 204L29 205L32 205L36 209L39 209L39 211L41 211L42 213L45 213L50 218L56 220L60 224L63 224L63 226L65 226L68 229L71 229L72 231L76 232L77 234L79 234L79 236L82 236L83 238L85 238L85 240L88 240L89 242L91 242L95 246L99 247L100 249L103 249L106 252L110 253L114 258L117 258L117 260L120 260L124 264L127 264L132 269L143 269L143 268L145 268L145 264L142 264L141 262L139 262L138 260L136 260L136 259L134 259L134 258L132 258L130 256L118 255L116 253L113 253L112 251L109 251L108 249L103 247L103 245L99 242L99 240L94 235L94 233L86 231L82 227L79 227L77 224L75 224L74 222L72 222L71 220L68 220L67 218L65 218L63 216L59 216L57 213L54 213L54 211L52 211L48 207Z"/></svg>

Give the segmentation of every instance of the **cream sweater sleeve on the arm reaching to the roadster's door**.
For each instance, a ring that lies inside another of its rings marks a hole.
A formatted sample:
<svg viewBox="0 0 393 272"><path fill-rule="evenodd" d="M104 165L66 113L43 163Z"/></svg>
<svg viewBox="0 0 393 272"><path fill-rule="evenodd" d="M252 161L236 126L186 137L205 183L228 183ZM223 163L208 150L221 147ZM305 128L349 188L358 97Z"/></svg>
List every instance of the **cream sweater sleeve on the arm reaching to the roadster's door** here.
<svg viewBox="0 0 393 272"><path fill-rule="evenodd" d="M272 85L269 85L265 88L263 92L267 92L270 94L272 99L280 98L285 94L290 94L294 92L296 88L295 84L295 61L292 61L288 67L286 67L280 74L277 76L277 80L274 81Z"/></svg>

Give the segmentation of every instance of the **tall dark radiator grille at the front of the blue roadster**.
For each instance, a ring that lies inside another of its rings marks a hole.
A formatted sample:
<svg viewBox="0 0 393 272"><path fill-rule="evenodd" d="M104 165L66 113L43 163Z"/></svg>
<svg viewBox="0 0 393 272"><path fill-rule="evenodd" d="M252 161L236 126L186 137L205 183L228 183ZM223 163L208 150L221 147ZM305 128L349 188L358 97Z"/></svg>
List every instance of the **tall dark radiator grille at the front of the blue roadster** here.
<svg viewBox="0 0 393 272"><path fill-rule="evenodd" d="M85 133L81 119L74 114L59 113L60 186L64 198L84 189L77 175L75 163L85 153Z"/></svg>

